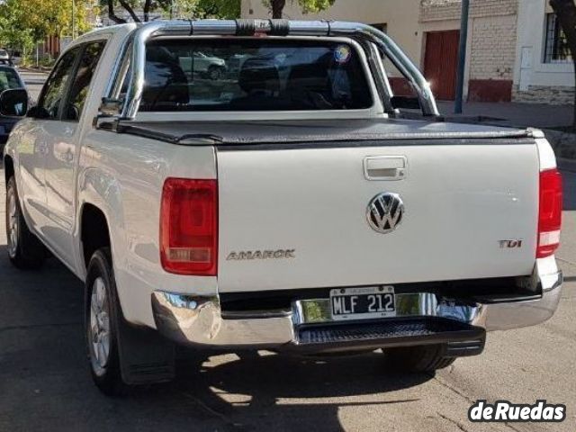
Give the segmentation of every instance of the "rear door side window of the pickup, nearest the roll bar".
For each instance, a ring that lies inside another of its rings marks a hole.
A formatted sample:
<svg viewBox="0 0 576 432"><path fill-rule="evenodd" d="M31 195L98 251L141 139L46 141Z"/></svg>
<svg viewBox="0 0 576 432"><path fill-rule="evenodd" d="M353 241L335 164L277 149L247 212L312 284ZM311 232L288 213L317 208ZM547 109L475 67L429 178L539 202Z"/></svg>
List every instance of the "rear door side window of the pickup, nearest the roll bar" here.
<svg viewBox="0 0 576 432"><path fill-rule="evenodd" d="M105 42L103 40L85 45L77 67L76 76L74 76L72 85L70 85L62 120L78 121L80 119L92 76L94 76L98 61L102 56L104 45Z"/></svg>

